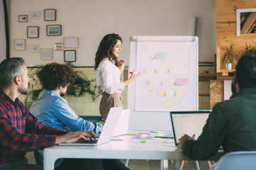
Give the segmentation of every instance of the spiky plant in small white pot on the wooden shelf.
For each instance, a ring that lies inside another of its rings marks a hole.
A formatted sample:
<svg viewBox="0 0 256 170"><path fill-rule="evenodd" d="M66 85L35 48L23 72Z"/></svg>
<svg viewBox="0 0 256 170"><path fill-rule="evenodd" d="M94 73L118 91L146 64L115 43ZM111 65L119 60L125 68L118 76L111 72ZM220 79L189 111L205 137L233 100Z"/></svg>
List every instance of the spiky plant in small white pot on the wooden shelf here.
<svg viewBox="0 0 256 170"><path fill-rule="evenodd" d="M238 50L236 44L231 42L230 45L223 45L222 50L225 51L223 56L223 63L225 63L225 69L232 69L232 64L238 63Z"/></svg>

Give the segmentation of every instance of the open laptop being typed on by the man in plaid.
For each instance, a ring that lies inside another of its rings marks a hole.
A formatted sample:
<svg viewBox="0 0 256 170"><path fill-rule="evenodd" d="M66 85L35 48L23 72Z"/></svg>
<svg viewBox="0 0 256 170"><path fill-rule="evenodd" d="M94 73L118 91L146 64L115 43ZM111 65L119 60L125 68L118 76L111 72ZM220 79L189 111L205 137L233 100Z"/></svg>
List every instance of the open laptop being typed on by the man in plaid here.
<svg viewBox="0 0 256 170"><path fill-rule="evenodd" d="M107 115L107 120L104 124L103 130L100 133L100 137L96 140L80 140L78 142L74 143L60 143L59 145L62 146L96 146L96 145L102 145L104 143L110 142L111 137L114 132L114 128L117 125L117 121L119 120L119 117L122 113L122 107L118 108L110 108L110 112Z"/></svg>

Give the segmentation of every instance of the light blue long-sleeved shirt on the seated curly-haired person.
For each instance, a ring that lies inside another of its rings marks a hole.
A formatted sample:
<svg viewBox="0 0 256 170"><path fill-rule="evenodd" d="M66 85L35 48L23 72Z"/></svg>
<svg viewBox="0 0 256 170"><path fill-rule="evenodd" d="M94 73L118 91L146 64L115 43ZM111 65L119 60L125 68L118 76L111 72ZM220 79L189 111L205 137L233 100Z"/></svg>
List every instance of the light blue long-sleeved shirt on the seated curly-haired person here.
<svg viewBox="0 0 256 170"><path fill-rule="evenodd" d="M44 125L61 130L93 130L98 134L103 128L98 123L91 123L76 115L65 98L54 91L44 90L41 97L33 102L30 111Z"/></svg>

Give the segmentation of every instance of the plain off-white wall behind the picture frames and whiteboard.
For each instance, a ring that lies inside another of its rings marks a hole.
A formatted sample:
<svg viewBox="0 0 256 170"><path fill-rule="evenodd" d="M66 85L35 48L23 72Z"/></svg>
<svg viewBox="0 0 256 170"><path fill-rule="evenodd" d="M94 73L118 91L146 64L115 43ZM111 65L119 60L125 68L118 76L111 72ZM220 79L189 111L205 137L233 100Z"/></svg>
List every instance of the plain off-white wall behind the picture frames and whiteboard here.
<svg viewBox="0 0 256 170"><path fill-rule="evenodd" d="M124 42L120 57L129 62L129 38L133 35L191 35L193 16L198 18L199 61L214 62L214 0L10 0L11 57L23 57L27 66L46 62L63 63L63 51L54 51L52 61L41 60L41 54L14 51L13 40L26 39L26 45L53 48L63 37L80 38L77 66L93 66L100 40L107 33L118 33ZM57 10L56 21L43 21L45 8ZM41 11L41 18L18 23L18 15ZM46 36L46 25L61 24L61 36ZM39 26L39 38L26 38L27 26Z"/></svg>

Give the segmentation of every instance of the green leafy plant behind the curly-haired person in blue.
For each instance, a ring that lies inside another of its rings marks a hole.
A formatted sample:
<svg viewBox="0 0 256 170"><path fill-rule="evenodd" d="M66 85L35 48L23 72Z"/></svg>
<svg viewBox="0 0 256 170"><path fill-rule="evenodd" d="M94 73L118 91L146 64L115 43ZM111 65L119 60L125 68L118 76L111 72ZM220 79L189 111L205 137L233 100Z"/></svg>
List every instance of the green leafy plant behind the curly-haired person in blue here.
<svg viewBox="0 0 256 170"><path fill-rule="evenodd" d="M68 63L70 66L73 66L72 64ZM40 70L43 66L36 66L31 69L37 69L36 71ZM92 97L92 101L95 101L95 99L100 96L100 93L97 91L96 84L93 84L95 79L88 79L86 75L79 70L75 69L75 74L77 74L77 78L75 79L75 82L73 84L70 84L68 86L66 96L74 96L74 97L80 97L85 96L86 94L89 94ZM43 91L43 86L39 83L36 72L28 74L28 77L31 79L31 87L30 91L26 95L24 99L24 105L26 108L30 109L32 106L33 101L35 101L40 94Z"/></svg>

